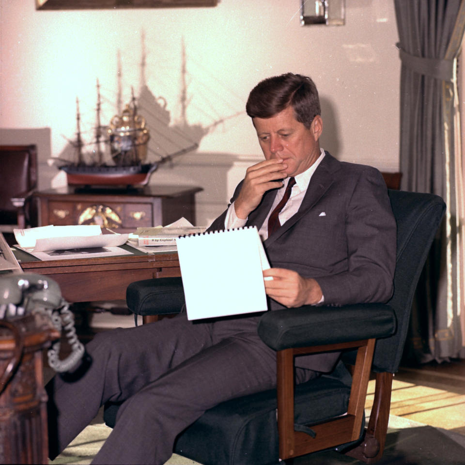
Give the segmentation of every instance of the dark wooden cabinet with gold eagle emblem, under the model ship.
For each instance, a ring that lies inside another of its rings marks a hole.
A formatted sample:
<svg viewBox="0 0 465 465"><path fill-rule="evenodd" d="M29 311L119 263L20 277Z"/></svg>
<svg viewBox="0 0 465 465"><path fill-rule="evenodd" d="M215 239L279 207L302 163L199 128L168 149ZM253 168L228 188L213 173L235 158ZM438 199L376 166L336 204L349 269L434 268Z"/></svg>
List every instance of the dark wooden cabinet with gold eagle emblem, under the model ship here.
<svg viewBox="0 0 465 465"><path fill-rule="evenodd" d="M131 233L167 225L181 217L195 224L195 186L146 186L140 190L79 191L70 187L37 192L39 226L98 224Z"/></svg>

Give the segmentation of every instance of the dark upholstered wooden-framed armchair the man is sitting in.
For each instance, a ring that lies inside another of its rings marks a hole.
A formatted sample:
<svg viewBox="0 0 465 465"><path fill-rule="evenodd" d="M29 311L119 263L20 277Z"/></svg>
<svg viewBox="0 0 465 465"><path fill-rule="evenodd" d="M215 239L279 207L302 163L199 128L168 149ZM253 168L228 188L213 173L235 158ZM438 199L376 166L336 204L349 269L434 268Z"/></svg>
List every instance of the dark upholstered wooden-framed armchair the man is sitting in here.
<svg viewBox="0 0 465 465"><path fill-rule="evenodd" d="M387 304L304 306L265 312L258 325L277 351L277 390L221 403L188 427L174 451L204 465L269 465L322 449L366 463L383 454L393 373L398 370L415 288L445 211L440 197L389 191L397 220L394 294ZM138 281L127 289L135 314L179 311L180 278ZM156 324L156 323L154 323ZM342 350L328 375L294 388L294 356ZM352 377L345 366L352 367ZM364 405L371 372L375 397L368 426ZM107 405L114 426L117 405ZM276 409L278 409L278 416ZM278 419L277 419L278 418Z"/></svg>

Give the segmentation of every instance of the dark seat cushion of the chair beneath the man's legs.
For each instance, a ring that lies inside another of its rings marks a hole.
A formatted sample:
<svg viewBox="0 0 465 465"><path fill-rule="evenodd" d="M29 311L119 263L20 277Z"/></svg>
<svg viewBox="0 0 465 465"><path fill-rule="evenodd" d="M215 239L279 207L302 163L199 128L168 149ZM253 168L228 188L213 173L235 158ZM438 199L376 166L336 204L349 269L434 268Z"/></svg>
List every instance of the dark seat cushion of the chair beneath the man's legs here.
<svg viewBox="0 0 465 465"><path fill-rule="evenodd" d="M309 424L347 412L347 379L331 375L295 388L295 422ZM106 405L105 423L113 427L118 404ZM259 392L208 410L176 440L174 451L203 465L277 464L276 389Z"/></svg>

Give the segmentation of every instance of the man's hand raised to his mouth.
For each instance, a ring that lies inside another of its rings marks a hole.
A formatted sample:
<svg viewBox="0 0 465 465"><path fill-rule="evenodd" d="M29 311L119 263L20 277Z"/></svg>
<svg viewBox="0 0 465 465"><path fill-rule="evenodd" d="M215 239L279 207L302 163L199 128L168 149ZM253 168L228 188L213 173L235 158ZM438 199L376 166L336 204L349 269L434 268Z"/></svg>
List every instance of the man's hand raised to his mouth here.
<svg viewBox="0 0 465 465"><path fill-rule="evenodd" d="M264 160L248 167L239 196L234 201L234 210L238 218L246 219L249 213L258 207L263 194L270 189L282 187L281 180L287 176L287 165L282 159Z"/></svg>

